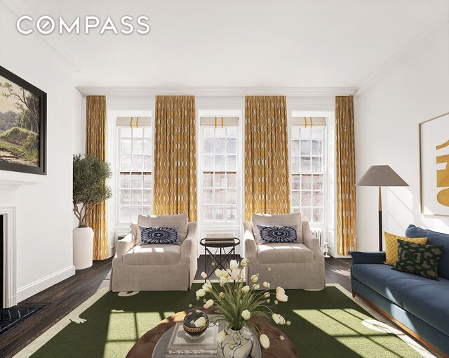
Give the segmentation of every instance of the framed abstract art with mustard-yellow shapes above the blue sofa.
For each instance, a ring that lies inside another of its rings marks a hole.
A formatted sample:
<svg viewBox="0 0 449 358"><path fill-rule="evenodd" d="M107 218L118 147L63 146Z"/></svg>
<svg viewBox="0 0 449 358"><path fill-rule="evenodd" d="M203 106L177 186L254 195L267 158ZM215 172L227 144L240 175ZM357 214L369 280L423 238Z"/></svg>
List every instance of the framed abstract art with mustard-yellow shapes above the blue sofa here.
<svg viewBox="0 0 449 358"><path fill-rule="evenodd" d="M421 213L449 216L449 113L420 124Z"/></svg>

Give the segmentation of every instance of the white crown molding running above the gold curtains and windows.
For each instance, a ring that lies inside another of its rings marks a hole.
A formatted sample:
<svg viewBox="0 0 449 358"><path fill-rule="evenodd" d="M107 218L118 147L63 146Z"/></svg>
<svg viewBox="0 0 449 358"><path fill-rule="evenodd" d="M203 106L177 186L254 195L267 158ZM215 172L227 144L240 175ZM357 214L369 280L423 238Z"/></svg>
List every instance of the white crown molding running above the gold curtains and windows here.
<svg viewBox="0 0 449 358"><path fill-rule="evenodd" d="M288 96L335 96L353 95L356 87L83 87L76 89L86 95L110 96L242 96L242 95L288 95Z"/></svg>

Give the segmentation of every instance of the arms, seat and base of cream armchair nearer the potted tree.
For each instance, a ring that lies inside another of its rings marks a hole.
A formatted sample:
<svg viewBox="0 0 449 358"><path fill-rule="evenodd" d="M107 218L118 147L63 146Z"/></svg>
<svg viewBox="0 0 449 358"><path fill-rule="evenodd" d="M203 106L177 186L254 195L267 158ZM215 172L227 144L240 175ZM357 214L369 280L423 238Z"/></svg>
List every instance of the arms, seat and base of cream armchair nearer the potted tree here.
<svg viewBox="0 0 449 358"><path fill-rule="evenodd" d="M188 223L180 245L136 245L138 225L117 242L112 259L111 290L187 291L192 286L197 260L196 223Z"/></svg>

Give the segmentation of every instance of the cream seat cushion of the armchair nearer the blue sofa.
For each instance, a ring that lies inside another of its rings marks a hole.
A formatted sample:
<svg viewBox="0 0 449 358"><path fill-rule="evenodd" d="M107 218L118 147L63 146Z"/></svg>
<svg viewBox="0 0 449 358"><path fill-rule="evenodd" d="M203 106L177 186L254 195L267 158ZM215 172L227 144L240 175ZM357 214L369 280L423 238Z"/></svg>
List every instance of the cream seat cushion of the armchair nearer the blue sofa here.
<svg viewBox="0 0 449 358"><path fill-rule="evenodd" d="M304 244L257 245L259 263L311 263L314 253Z"/></svg>

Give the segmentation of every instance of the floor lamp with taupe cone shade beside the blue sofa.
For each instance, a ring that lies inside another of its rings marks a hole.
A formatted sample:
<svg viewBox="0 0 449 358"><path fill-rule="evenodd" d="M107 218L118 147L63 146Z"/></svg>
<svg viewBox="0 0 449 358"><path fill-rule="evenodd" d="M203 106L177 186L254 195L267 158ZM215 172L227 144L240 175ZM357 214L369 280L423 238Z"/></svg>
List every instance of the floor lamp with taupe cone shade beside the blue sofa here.
<svg viewBox="0 0 449 358"><path fill-rule="evenodd" d="M382 251L382 187L408 187L389 166L371 166L356 183L358 187L379 187L379 251Z"/></svg>

